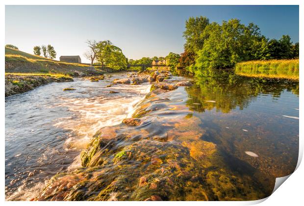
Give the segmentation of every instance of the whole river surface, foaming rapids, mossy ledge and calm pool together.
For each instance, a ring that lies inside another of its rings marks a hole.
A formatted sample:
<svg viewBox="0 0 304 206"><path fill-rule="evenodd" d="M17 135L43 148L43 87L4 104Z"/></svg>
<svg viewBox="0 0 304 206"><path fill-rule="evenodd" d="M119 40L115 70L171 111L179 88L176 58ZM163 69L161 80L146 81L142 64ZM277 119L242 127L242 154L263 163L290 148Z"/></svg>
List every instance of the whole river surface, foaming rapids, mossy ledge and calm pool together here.
<svg viewBox="0 0 304 206"><path fill-rule="evenodd" d="M294 171L298 82L219 72L172 91L106 87L123 77L5 99L6 200L37 197L57 173L35 200L256 200ZM121 123L129 117L142 123Z"/></svg>

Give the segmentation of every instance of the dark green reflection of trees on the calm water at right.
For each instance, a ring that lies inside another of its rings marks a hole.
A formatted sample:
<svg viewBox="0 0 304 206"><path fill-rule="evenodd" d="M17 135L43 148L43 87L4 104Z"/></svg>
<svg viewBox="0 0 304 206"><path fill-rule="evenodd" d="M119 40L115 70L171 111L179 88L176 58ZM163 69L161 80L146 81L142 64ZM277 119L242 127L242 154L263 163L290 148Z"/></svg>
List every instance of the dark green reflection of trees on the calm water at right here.
<svg viewBox="0 0 304 206"><path fill-rule="evenodd" d="M219 71L212 76L198 77L195 85L188 87L190 110L204 112L216 108L228 113L244 109L260 95L270 95L273 100L286 90L299 96L299 83L281 79L241 77L231 71Z"/></svg>

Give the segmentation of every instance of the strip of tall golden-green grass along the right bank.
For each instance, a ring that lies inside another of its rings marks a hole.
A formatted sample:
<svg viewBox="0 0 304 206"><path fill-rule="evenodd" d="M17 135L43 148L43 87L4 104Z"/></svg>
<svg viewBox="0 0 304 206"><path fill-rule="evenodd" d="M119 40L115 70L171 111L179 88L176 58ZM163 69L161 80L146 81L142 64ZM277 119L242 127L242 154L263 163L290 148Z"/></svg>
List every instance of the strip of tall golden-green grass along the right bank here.
<svg viewBox="0 0 304 206"><path fill-rule="evenodd" d="M236 64L235 74L299 80L299 59L257 60Z"/></svg>

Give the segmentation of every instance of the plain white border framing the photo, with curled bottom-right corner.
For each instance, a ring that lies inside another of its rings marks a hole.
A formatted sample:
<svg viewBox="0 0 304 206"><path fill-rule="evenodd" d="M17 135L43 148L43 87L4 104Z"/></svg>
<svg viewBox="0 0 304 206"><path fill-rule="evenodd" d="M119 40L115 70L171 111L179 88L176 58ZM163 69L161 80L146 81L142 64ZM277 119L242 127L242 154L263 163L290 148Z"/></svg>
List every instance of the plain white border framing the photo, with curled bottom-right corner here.
<svg viewBox="0 0 304 206"><path fill-rule="evenodd" d="M212 1L203 1L203 0L111 0L111 1L102 1L102 0L73 0L73 1L64 1L64 0L3 0L3 4L1 5L1 27L2 27L2 32L1 32L1 38L3 41L2 46L5 44L5 31L3 28L5 28L5 4L6 5L98 5L98 4L103 4L103 5L300 5L300 22L299 22L299 42L301 41L300 39L301 36L304 34L303 33L303 20L304 20L304 1L303 0L212 0ZM300 56L303 56L303 45L300 44ZM4 48L1 50L0 54L1 58L1 63L2 63L2 69L0 70L0 79L1 79L1 93L4 94ZM303 62L302 60L300 61L300 79L303 77ZM5 158L5 146L4 146L4 119L5 119L5 112L4 112L4 95L2 95L2 101L1 103L1 137L2 137L2 152L1 152L1 160L2 160L2 178L1 178L1 200L4 202L5 205L50 205L50 204L55 204L55 205L83 205L83 204L90 204L90 205L155 205L155 204L161 204L161 205L185 205L185 204L194 204L194 205L253 205L257 204L260 202L261 205L263 206L268 206L268 205L301 205L303 204L303 183L304 179L302 174L304 174L304 167L303 165L300 165L300 162L302 160L303 156L303 138L302 138L302 133L303 133L303 123L301 121L303 117L303 112L302 112L302 107L301 103L303 102L303 82L300 81L300 152L299 152L299 161L297 165L297 171L292 174L286 182L284 182L283 186L279 187L277 191L275 191L267 201L263 202L264 200L259 200L259 201L249 201L249 202L5 202L4 201L4 158ZM300 165L300 167L299 167Z"/></svg>

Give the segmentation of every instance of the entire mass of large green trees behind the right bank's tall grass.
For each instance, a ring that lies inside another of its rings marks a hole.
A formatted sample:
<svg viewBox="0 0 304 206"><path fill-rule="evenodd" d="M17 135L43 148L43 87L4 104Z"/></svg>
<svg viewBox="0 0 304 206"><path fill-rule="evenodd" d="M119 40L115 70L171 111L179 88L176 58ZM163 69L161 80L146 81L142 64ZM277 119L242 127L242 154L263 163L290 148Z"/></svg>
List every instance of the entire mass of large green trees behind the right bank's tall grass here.
<svg viewBox="0 0 304 206"><path fill-rule="evenodd" d="M190 70L233 68L249 60L299 58L299 43L293 44L289 35L268 39L257 25L246 26L238 19L220 25L203 16L190 17L183 37L186 43L177 66Z"/></svg>

